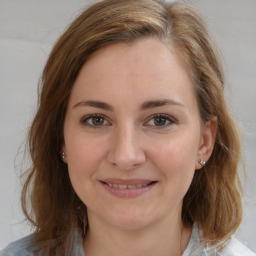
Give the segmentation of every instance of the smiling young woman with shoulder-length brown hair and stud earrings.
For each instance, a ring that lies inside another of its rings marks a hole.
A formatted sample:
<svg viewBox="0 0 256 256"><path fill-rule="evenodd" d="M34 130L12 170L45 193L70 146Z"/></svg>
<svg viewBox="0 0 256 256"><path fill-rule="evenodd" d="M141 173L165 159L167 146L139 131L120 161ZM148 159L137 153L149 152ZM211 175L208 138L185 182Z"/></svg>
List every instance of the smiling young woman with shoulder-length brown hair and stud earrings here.
<svg viewBox="0 0 256 256"><path fill-rule="evenodd" d="M49 56L29 133L35 232L0 255L255 255L232 238L241 152L223 91L190 5L84 11Z"/></svg>

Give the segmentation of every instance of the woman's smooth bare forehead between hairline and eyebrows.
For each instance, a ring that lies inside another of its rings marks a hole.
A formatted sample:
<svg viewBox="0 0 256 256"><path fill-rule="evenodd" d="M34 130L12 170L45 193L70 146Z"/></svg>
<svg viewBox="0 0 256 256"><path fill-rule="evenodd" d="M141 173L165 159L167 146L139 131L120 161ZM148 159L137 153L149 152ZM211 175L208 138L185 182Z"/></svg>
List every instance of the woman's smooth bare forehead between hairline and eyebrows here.
<svg viewBox="0 0 256 256"><path fill-rule="evenodd" d="M82 94L102 101L106 96L145 100L166 95L186 100L194 97L194 90L175 52L158 39L147 38L96 51L82 67L71 100Z"/></svg>

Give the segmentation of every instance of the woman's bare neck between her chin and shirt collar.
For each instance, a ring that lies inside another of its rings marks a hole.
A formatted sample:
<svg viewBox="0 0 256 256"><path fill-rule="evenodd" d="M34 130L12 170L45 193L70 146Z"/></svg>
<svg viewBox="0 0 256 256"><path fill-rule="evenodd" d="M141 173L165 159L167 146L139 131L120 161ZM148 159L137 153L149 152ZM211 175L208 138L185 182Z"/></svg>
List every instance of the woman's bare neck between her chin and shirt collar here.
<svg viewBox="0 0 256 256"><path fill-rule="evenodd" d="M89 219L86 256L180 256L191 235L191 228L185 227L181 218L167 218L133 230L102 224L98 218Z"/></svg>

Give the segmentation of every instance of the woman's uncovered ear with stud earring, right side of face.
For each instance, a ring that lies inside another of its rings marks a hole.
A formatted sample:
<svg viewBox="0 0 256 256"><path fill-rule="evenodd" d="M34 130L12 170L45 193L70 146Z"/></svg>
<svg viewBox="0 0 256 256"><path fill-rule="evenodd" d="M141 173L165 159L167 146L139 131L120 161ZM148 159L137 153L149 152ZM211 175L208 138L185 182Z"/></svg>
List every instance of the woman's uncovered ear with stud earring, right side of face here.
<svg viewBox="0 0 256 256"><path fill-rule="evenodd" d="M197 153L196 170L202 168L202 165L198 162L199 159L202 158L207 164L207 161L211 157L216 139L217 126L218 121L216 116L210 121L207 121L203 126Z"/></svg>

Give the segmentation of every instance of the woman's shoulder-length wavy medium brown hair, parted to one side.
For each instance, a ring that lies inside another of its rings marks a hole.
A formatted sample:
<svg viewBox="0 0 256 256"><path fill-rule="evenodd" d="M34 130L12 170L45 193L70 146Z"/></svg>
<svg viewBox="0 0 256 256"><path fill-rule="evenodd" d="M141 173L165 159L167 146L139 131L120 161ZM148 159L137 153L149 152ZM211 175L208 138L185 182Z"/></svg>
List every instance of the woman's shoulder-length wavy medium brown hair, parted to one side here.
<svg viewBox="0 0 256 256"><path fill-rule="evenodd" d="M35 226L35 243L43 253L68 255L72 232L86 228L86 206L60 159L74 81L99 48L145 37L159 38L178 54L194 84L202 122L218 118L212 156L195 172L185 195L183 222L197 222L204 241L212 244L230 238L241 222L239 135L224 99L222 65L201 16L183 2L105 0L69 26L42 74L39 106L28 137L32 166L26 172L22 207Z"/></svg>

